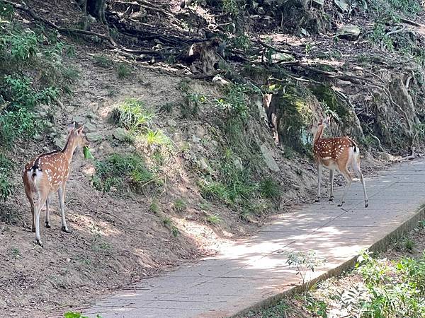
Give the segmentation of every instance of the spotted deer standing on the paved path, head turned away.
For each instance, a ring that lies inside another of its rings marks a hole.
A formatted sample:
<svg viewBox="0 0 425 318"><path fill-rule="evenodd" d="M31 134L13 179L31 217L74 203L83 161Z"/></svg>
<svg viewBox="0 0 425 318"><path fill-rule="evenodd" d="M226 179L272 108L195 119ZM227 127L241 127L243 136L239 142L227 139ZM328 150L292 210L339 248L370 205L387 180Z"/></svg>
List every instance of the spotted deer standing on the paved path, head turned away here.
<svg viewBox="0 0 425 318"><path fill-rule="evenodd" d="M335 170L339 170L346 179L347 184L341 197L341 203L338 204L338 206L342 206L348 189L351 187L351 182L353 181L353 174L348 170L348 167L351 167L360 177L361 184L363 185L363 194L365 196L365 207L367 208L369 206L369 199L368 194L366 194L365 180L360 170L359 148L349 137L322 138L323 131L329 124L330 119L331 117L327 117L324 120L320 120L317 131L314 133L313 153L319 175L316 202L320 201L320 180L322 179L322 169L326 167L330 170L329 179L331 182L331 195L329 201L334 201Z"/></svg>

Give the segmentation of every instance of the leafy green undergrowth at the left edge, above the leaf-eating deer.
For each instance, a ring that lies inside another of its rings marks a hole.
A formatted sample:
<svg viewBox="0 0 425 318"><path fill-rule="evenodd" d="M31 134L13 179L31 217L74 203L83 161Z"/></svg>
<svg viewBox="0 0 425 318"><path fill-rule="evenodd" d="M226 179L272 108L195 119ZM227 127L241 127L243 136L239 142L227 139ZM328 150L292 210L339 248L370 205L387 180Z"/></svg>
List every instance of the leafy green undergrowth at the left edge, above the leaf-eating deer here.
<svg viewBox="0 0 425 318"><path fill-rule="evenodd" d="M64 64L63 57L73 49L58 33L41 26L30 30L13 16L12 6L0 4L0 151L45 131L50 123L36 112L49 107L54 114L55 102L71 92L79 77L78 69ZM10 170L10 160L1 155L2 200L13 190Z"/></svg>

